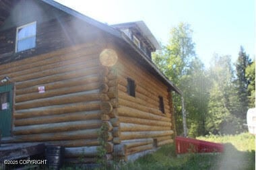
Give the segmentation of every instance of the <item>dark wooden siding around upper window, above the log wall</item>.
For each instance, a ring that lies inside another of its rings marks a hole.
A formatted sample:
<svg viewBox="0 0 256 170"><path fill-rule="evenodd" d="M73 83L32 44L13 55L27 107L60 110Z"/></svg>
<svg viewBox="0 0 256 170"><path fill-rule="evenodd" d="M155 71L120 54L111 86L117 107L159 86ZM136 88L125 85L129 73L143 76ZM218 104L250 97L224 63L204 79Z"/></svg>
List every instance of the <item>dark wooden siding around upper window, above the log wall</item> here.
<svg viewBox="0 0 256 170"><path fill-rule="evenodd" d="M30 20L25 24L34 21ZM36 47L22 52L15 52L16 27L9 28L0 31L0 65L75 44L100 42L100 34L102 34L100 30L94 26L90 26L69 15L63 15L46 22L37 22Z"/></svg>

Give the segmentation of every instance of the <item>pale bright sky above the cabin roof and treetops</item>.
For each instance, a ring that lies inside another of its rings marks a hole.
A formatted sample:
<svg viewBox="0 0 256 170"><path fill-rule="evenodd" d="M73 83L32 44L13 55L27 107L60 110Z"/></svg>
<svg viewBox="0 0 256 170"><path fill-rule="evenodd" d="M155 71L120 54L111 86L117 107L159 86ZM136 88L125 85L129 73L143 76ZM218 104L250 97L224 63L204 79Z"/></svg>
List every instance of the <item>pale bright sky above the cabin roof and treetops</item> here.
<svg viewBox="0 0 256 170"><path fill-rule="evenodd" d="M255 58L254 0L55 1L108 25L142 20L162 44L168 43L171 28L190 24L195 52L205 67L214 53L229 54L235 62L240 46Z"/></svg>

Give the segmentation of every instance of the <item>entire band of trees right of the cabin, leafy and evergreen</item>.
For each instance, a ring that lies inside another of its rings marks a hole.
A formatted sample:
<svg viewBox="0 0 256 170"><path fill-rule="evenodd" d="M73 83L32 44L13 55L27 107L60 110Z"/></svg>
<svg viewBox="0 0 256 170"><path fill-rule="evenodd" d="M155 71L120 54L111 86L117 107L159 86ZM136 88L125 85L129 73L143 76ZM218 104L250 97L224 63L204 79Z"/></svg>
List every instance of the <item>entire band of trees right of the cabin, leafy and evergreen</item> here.
<svg viewBox="0 0 256 170"><path fill-rule="evenodd" d="M248 106L255 105L255 62L241 47L235 65L231 56L214 54L210 68L205 69L192 35L189 24L181 23L170 30L168 44L152 55L166 77L183 91L189 136L243 131ZM173 103L177 134L182 134L181 96L174 94Z"/></svg>

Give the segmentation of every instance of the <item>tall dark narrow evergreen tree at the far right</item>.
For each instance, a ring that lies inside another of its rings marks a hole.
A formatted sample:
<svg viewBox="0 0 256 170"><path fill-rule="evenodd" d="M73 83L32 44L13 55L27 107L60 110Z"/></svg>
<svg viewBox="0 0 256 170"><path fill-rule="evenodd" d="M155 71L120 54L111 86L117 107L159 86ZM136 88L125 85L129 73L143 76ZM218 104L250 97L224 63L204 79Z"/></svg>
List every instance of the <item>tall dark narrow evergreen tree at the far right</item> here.
<svg viewBox="0 0 256 170"><path fill-rule="evenodd" d="M248 91L247 87L249 85L249 80L246 77L246 68L251 65L251 59L249 55L246 54L243 46L240 48L240 52L238 53L238 59L236 60L236 88L238 95L238 105L237 111L234 113L238 118L244 119L246 118L246 113L248 110Z"/></svg>

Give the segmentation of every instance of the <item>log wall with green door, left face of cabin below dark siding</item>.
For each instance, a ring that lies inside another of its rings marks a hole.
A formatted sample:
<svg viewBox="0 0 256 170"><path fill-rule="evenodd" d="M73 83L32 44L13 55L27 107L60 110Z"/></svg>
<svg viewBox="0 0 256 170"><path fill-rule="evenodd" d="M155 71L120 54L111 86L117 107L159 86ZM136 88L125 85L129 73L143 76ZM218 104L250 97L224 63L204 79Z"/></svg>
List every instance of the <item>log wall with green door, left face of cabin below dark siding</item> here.
<svg viewBox="0 0 256 170"><path fill-rule="evenodd" d="M67 160L84 155L84 161L94 161L104 123L111 153L113 126L107 114L113 108L101 51L102 45L87 43L0 65L0 77L15 83L13 137L2 142L62 145ZM44 86L44 93L38 93L39 86Z"/></svg>

